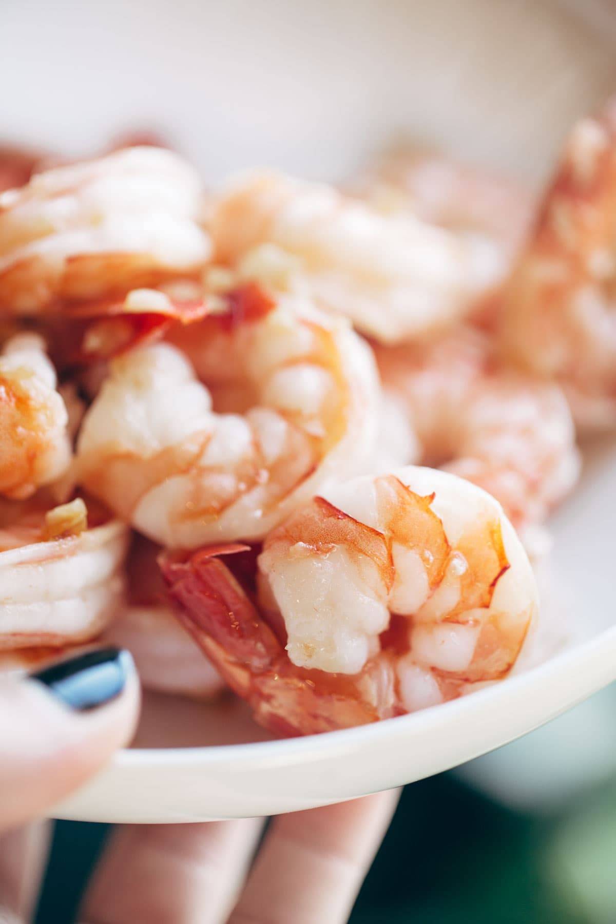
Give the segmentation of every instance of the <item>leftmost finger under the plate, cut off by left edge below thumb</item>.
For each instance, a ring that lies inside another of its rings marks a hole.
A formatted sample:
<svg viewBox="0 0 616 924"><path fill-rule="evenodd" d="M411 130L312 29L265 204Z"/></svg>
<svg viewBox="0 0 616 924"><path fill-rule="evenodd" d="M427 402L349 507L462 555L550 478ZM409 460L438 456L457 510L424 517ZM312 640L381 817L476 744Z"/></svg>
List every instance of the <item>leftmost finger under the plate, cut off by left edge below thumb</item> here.
<svg viewBox="0 0 616 924"><path fill-rule="evenodd" d="M49 821L0 836L0 921L31 920L50 844Z"/></svg>

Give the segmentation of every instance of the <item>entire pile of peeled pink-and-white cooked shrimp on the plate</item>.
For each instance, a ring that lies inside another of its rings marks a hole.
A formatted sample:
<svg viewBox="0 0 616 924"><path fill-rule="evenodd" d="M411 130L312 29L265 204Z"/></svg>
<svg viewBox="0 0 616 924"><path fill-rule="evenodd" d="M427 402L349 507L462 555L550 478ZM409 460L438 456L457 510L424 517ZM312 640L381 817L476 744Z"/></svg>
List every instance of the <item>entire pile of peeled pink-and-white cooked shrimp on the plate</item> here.
<svg viewBox="0 0 616 924"><path fill-rule="evenodd" d="M103 639L284 736L509 675L616 423L615 113L538 204L412 145L209 187L0 148L2 669Z"/></svg>

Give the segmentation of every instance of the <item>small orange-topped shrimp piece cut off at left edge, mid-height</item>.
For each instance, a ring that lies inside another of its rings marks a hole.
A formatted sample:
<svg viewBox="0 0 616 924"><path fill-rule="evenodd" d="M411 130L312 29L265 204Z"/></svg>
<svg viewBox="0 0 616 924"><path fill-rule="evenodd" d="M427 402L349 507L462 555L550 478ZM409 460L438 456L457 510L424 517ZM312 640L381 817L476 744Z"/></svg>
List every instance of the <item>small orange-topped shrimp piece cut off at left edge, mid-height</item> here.
<svg viewBox="0 0 616 924"><path fill-rule="evenodd" d="M54 367L36 334L17 334L0 355L0 493L30 497L71 458L68 415Z"/></svg>

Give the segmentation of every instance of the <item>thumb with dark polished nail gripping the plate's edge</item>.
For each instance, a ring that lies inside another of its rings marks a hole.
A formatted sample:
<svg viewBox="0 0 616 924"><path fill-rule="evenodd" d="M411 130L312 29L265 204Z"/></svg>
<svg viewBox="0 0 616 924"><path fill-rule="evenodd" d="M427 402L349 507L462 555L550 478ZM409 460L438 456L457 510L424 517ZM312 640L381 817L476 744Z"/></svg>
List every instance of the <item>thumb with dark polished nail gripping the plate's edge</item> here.
<svg viewBox="0 0 616 924"><path fill-rule="evenodd" d="M127 651L90 650L0 682L0 831L42 814L127 744L139 683Z"/></svg>

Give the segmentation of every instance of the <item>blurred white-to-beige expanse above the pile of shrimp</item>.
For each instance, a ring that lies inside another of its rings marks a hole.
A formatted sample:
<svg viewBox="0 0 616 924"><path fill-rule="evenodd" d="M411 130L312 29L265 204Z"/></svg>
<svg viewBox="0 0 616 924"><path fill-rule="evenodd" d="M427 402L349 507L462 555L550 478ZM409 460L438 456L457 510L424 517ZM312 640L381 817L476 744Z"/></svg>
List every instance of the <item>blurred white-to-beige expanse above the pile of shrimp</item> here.
<svg viewBox="0 0 616 924"><path fill-rule="evenodd" d="M1 132L79 153L159 127L212 178L255 163L342 176L411 133L539 177L616 85L609 0L575 5L587 23L573 6L0 0Z"/></svg>

